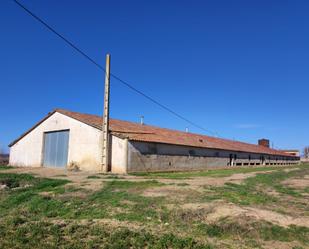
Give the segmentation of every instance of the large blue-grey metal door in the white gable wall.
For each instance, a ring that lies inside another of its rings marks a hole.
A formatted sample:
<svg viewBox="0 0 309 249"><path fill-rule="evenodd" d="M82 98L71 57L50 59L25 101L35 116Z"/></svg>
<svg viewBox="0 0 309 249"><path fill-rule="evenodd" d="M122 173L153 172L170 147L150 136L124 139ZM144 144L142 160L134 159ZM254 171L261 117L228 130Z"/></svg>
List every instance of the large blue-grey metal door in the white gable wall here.
<svg viewBox="0 0 309 249"><path fill-rule="evenodd" d="M44 133L43 166L63 168L68 162L69 131Z"/></svg>

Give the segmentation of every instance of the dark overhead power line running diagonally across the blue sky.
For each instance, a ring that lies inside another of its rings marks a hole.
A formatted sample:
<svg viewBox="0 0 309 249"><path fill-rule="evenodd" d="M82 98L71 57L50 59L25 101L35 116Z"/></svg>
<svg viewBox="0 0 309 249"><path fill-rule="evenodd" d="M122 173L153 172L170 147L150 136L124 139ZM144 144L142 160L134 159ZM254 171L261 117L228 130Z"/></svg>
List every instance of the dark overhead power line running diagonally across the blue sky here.
<svg viewBox="0 0 309 249"><path fill-rule="evenodd" d="M67 39L66 37L64 37L62 34L60 34L58 31L56 31L54 28L52 28L48 23L46 23L45 21L43 21L40 17L38 17L36 14L34 14L32 11L30 11L28 8L26 8L23 4L21 4L20 2L18 2L17 0L13 0L20 8L22 8L25 12L27 12L30 16L32 16L35 20L37 20L38 22L40 22L44 27L46 27L49 31L51 31L52 33L54 33L55 35L57 35L60 39L62 39L67 45L69 45L70 47L72 47L75 51L77 51L79 54L81 54L82 56L84 56L88 61L90 61L92 64L94 64L96 67L98 67L100 70L105 71L105 68L100 65L98 62L96 62L93 58L91 58L89 55L87 55L85 52L83 52L80 48L78 48L73 42L71 42L69 39ZM182 116L181 114L173 111L171 108L167 107L166 105L161 104L159 101L155 100L154 98L150 97L149 95L143 93L142 91L138 90L137 88L135 88L134 86L132 86L130 83L128 83L125 80L122 80L121 78L119 78L117 75L114 74L110 74L114 79L116 79L117 81L119 81L120 83L122 83L123 85L127 86L129 89L131 89L132 91L140 94L141 96L143 96L144 98L148 99L149 101L151 101L152 103L158 105L159 107L161 107L162 109L166 110L167 112L173 114L174 116L182 119L183 121L186 121L187 123L191 124L192 126L195 126L196 128L199 128L203 131L209 132L215 136L218 136L217 132L213 132L210 131L208 129L205 129L204 127L196 124L195 122L190 121L189 119L187 119L186 117Z"/></svg>

